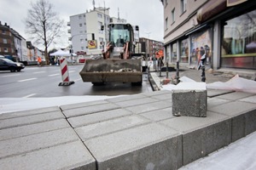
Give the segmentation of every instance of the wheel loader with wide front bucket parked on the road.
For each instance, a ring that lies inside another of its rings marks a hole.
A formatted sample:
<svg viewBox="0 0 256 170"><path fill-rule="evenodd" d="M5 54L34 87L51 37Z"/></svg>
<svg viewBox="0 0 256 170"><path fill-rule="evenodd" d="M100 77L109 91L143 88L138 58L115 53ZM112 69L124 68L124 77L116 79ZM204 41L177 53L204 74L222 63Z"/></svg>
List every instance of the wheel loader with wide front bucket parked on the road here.
<svg viewBox="0 0 256 170"><path fill-rule="evenodd" d="M142 85L142 57L135 54L133 26L130 24L109 24L109 42L101 57L86 59L79 72L84 82L102 85L106 82L131 82ZM104 30L104 26L101 28ZM138 26L135 26L138 31Z"/></svg>

